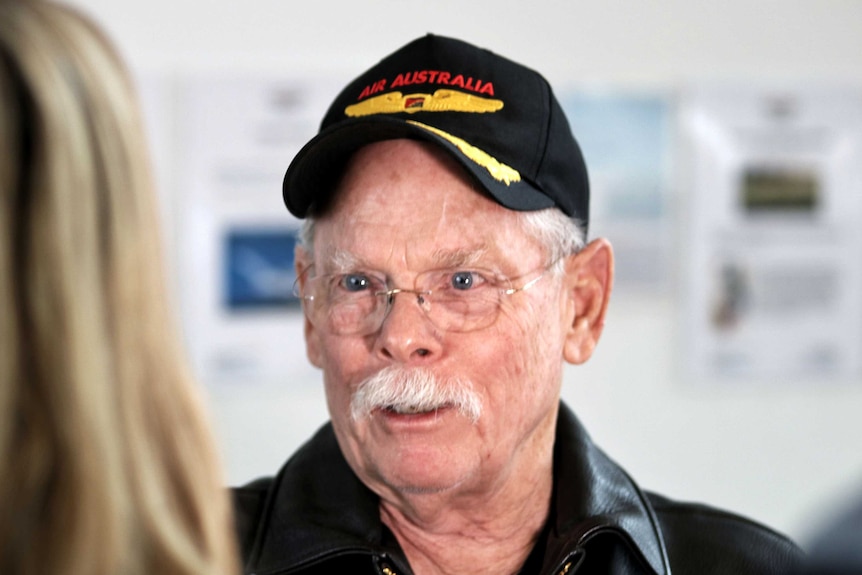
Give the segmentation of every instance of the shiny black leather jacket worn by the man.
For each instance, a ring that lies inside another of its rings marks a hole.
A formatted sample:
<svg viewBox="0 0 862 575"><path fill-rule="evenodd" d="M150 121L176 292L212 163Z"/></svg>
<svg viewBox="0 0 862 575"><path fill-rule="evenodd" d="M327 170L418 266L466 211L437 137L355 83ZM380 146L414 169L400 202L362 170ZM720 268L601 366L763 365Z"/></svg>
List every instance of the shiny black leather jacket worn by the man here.
<svg viewBox="0 0 862 575"><path fill-rule="evenodd" d="M235 489L234 498L247 574L412 573L331 425L275 478ZM538 572L548 575L779 574L802 559L789 539L748 519L641 491L565 405L552 509L537 547Z"/></svg>

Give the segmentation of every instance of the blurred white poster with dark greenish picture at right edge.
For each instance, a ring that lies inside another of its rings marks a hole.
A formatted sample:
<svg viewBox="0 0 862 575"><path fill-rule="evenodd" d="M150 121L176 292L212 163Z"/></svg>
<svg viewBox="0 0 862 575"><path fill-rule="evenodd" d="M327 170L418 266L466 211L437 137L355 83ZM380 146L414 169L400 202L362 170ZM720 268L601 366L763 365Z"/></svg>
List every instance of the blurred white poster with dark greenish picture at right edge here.
<svg viewBox="0 0 862 575"><path fill-rule="evenodd" d="M710 88L680 107L683 357L701 380L862 373L862 97Z"/></svg>

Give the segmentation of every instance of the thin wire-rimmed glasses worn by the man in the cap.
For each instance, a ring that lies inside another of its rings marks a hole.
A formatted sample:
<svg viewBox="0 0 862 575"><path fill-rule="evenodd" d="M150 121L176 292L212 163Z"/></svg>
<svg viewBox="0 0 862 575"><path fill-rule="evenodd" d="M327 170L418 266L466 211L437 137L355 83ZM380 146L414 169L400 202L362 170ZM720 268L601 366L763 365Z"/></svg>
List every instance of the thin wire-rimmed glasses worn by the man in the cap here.
<svg viewBox="0 0 862 575"><path fill-rule="evenodd" d="M293 293L303 300L312 324L337 335L376 332L399 294L413 295L438 330L469 332L493 324L503 298L536 285L552 265L517 287L531 274L510 279L482 269L438 269L417 275L413 288L406 289L390 287L379 272L351 271L301 277Z"/></svg>

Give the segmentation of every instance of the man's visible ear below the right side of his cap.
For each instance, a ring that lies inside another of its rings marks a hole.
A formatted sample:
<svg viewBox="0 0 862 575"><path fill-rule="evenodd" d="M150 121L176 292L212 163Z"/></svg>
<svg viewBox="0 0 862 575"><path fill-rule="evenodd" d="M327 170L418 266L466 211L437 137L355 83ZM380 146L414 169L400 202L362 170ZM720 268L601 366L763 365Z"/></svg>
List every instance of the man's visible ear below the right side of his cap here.
<svg viewBox="0 0 862 575"><path fill-rule="evenodd" d="M614 283L614 252L599 238L566 260L566 341L563 357L584 363L602 334Z"/></svg>

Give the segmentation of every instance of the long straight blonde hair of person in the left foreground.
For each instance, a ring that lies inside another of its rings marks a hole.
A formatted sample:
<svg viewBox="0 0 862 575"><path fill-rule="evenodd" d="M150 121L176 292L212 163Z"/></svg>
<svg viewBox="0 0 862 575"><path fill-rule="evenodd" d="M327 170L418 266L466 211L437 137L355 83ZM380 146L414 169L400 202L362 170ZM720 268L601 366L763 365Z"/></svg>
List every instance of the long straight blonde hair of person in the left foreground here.
<svg viewBox="0 0 862 575"><path fill-rule="evenodd" d="M75 11L0 0L0 572L234 573L135 93Z"/></svg>

